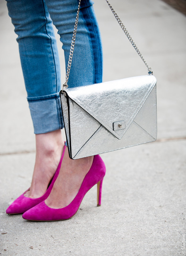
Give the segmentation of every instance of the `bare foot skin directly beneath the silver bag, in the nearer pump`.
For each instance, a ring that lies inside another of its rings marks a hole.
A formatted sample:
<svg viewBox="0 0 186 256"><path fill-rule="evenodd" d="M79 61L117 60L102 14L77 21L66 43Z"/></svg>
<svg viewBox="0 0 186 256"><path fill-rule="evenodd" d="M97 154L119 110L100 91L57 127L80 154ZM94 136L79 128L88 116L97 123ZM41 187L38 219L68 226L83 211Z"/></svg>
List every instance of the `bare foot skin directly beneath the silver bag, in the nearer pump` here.
<svg viewBox="0 0 186 256"><path fill-rule="evenodd" d="M90 170L93 156L77 160L69 158L66 148L60 173L49 197L45 200L50 208L58 209L69 205L77 195L85 175Z"/></svg>

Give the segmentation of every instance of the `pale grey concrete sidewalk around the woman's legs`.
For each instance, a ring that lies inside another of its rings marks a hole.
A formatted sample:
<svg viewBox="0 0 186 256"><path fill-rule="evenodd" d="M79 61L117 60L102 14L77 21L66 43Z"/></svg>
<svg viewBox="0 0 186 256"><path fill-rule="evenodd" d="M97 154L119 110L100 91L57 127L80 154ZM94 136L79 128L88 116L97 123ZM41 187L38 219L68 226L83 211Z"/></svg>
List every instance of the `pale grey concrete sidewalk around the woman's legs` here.
<svg viewBox="0 0 186 256"><path fill-rule="evenodd" d="M35 135L18 43L0 0L0 254L53 256L185 255L186 17L154 0L111 1L157 78L156 142L103 154L102 206L96 186L66 221L28 222L6 215L31 182ZM104 81L147 74L107 3L95 0L103 39ZM61 43L62 81L65 78Z"/></svg>

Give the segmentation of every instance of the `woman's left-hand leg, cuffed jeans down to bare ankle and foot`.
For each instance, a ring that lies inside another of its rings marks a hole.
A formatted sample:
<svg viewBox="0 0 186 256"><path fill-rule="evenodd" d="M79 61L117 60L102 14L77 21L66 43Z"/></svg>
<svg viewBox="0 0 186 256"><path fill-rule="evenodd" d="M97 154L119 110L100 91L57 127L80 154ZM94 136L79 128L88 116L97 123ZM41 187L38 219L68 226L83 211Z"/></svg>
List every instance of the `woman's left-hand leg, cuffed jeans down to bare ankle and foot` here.
<svg viewBox="0 0 186 256"><path fill-rule="evenodd" d="M60 64L47 7L42 0L7 0L18 35L28 103L36 134L36 162L28 197L43 195L61 158L64 141Z"/></svg>

